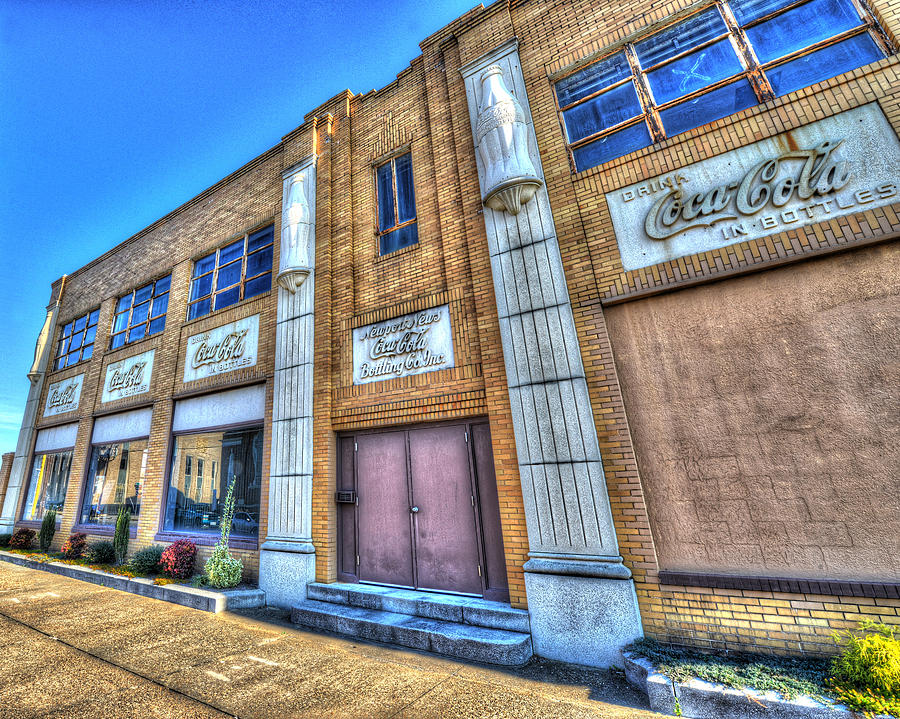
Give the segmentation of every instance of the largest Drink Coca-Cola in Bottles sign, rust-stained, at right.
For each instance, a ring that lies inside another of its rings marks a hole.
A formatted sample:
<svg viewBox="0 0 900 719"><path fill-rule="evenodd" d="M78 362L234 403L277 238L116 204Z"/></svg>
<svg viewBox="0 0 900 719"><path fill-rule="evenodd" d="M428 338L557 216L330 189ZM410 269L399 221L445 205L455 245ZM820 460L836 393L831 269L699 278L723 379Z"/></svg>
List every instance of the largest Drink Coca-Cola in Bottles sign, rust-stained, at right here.
<svg viewBox="0 0 900 719"><path fill-rule="evenodd" d="M900 141L870 103L606 194L626 270L897 202Z"/></svg>

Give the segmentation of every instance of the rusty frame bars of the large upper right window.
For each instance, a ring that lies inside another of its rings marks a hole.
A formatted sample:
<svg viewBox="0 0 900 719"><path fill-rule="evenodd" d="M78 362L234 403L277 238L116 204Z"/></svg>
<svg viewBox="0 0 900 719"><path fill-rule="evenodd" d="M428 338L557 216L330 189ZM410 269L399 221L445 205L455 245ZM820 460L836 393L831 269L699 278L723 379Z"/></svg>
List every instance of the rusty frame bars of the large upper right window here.
<svg viewBox="0 0 900 719"><path fill-rule="evenodd" d="M817 50L821 50L830 45L835 45L839 42L847 40L848 38L854 37L856 35L861 35L863 33L868 33L878 48L884 53L887 57L889 55L894 54L896 49L888 38L887 34L882 30L879 26L874 14L872 11L866 6L864 0L847 0L849 4L856 11L857 15L860 18L861 24L857 27L850 28L842 33L837 35L833 35L824 40L820 40L818 42L812 43L804 48L799 50L795 50L787 55L783 55L774 60L770 60L766 63L760 63L759 59L756 56L753 47L747 38L745 33L745 28L753 27L754 25L766 22L767 20L771 20L778 15L784 14L794 8L800 7L801 5L805 5L811 2L811 0L791 0L790 2L785 3L777 10L773 10L772 12L767 13L764 16L760 16L759 18L755 18L752 21L741 25L737 18L734 15L731 7L728 4L728 0L714 0L713 2L705 2L700 3L697 7L691 9L689 12L681 14L679 13L676 17L672 18L670 22L666 22L658 27L653 28L650 32L641 33L635 35L631 38L628 38L625 42L619 43L609 49L609 52L604 52L597 57L593 58L589 63L579 64L577 67L571 69L567 72L561 72L558 75L552 78L553 80L553 97L556 102L557 107L557 116L560 123L560 128L563 132L563 137L566 141L566 149L569 153L569 163L573 173L579 172L580 170L577 168L575 164L575 155L574 150L583 147L585 145L589 145L592 142L595 142L603 137L608 135L612 135L620 130L626 129L633 125L644 122L647 130L650 134L650 138L653 144L662 142L667 139L669 135L666 134L665 128L663 126L662 120L660 119L660 112L667 110L670 107L678 105L683 102L687 102L701 95L705 95L709 92L714 92L715 90L728 85L730 83L738 82L741 79L746 79L751 88L753 89L754 94L758 102L764 103L769 102L775 98L775 93L772 89L772 85L769 82L768 77L766 76L765 71L782 65L784 63L790 62L792 60L796 60L797 58L803 57L804 55L809 55ZM716 7L719 11L719 15L725 23L727 28L727 32L721 35L718 35L712 39L705 40L704 42L692 46L687 50L673 55L672 57L666 58L662 62L656 63L650 67L644 68L641 66L640 61L637 57L637 53L635 51L635 45L639 42L646 40L648 38L653 37L665 30L683 23L687 21L689 18L697 15L703 11L708 10L711 7ZM728 77L717 80L716 82L710 83L709 85L705 85L702 88L699 88L693 92L687 93L685 95L681 95L677 98L669 100L665 103L657 104L653 97L653 92L650 88L650 84L647 80L647 74L656 70L658 68L664 67L665 65L674 62L681 57L688 55L692 52L696 52L706 46L712 45L713 43L719 42L724 38L728 38L731 42L731 46L737 56L738 62L740 62L742 70L739 73L735 73ZM628 60L628 64L631 68L631 75L625 77L621 80L617 80L614 83L610 83L602 87L599 90L596 90L584 97L579 98L574 102L570 102L566 105L561 105L559 102L559 95L557 91L557 85L560 81L564 80L567 77L571 77L572 75L584 71L586 68L602 62L606 60L616 53L624 52L626 59ZM633 118L629 118L628 120L624 120L615 125L611 125L609 127L603 128L594 132L590 135L582 137L576 141L571 141L569 137L568 127L566 126L566 121L563 113L567 110L572 109L573 107L577 107L578 105L584 104L586 102L591 101L595 97L602 95L610 90L624 85L625 83L632 82L635 87L635 91L638 96L638 101L641 105L641 109L643 111L642 114L637 115ZM605 164L605 163L601 163ZM599 165L595 165L594 167L598 167ZM584 168L590 169L590 168Z"/></svg>

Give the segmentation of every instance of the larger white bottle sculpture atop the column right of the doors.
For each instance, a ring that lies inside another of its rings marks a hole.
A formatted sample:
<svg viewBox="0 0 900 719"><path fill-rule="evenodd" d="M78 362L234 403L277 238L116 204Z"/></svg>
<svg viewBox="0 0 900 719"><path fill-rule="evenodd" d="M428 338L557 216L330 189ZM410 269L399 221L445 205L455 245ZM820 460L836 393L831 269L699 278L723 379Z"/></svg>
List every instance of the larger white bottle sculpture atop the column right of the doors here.
<svg viewBox="0 0 900 719"><path fill-rule="evenodd" d="M481 74L475 144L485 172L484 204L518 215L542 183L528 154L525 113L506 89L499 65Z"/></svg>

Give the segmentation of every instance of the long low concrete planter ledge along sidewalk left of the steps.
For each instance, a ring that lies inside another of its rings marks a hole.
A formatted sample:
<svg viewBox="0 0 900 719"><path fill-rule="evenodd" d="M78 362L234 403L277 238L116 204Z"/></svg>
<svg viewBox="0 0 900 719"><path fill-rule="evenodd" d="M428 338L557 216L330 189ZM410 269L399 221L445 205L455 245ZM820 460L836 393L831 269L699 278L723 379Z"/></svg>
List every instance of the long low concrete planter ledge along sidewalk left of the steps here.
<svg viewBox="0 0 900 719"><path fill-rule="evenodd" d="M254 609L266 605L266 593L261 589L225 589L214 591L210 589L197 589L183 584L154 584L152 579L144 577L123 577L118 574L101 572L90 567L82 567L77 564L64 564L63 562L38 562L21 554L4 552L0 550L0 560L18 564L20 567L40 569L51 574L60 574L71 579L79 579L82 582L99 584L110 589L119 589L123 592L140 594L142 597L159 599L163 602L181 604L185 607L199 609L204 612L230 611L233 609Z"/></svg>

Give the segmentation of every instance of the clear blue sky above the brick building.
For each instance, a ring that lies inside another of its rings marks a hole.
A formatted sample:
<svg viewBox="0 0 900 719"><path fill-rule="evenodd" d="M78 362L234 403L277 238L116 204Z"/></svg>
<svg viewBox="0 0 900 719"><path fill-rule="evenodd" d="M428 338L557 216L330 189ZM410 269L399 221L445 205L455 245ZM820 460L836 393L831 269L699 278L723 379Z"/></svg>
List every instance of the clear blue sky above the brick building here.
<svg viewBox="0 0 900 719"><path fill-rule="evenodd" d="M476 0L0 3L0 452L15 449L50 283L390 83Z"/></svg>

